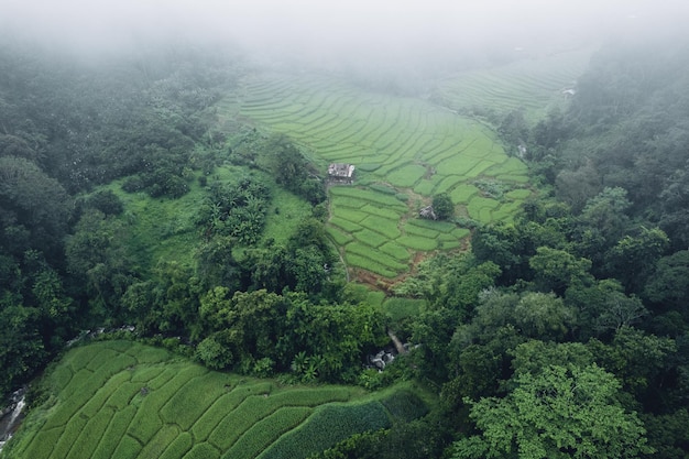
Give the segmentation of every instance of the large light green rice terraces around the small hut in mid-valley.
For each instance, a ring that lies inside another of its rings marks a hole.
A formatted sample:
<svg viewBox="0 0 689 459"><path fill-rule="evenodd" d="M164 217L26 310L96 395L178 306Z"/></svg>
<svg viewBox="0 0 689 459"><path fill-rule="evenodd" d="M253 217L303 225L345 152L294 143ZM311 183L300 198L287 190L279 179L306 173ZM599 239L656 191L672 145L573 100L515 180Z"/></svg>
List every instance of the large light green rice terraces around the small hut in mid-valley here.
<svg viewBox="0 0 689 459"><path fill-rule="evenodd" d="M330 188L328 223L350 269L394 278L418 252L464 247L464 229L414 223L438 193L450 194L457 215L482 222L508 220L524 200L491 200L472 187L491 178L526 188L526 166L482 123L426 100L365 92L329 76L258 75L219 113L287 134L324 171L330 162L356 165L354 186Z"/></svg>

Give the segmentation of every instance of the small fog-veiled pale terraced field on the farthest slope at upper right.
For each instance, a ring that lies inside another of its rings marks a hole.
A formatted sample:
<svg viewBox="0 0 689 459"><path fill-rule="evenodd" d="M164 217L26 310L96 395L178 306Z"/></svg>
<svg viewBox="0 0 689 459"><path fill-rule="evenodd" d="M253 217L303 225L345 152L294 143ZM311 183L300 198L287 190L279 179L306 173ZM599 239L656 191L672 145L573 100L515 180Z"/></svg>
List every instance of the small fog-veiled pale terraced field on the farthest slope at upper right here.
<svg viewBox="0 0 689 459"><path fill-rule="evenodd" d="M469 70L439 81L433 98L460 112L523 110L535 123L566 100L562 90L576 86L591 54L582 48Z"/></svg>

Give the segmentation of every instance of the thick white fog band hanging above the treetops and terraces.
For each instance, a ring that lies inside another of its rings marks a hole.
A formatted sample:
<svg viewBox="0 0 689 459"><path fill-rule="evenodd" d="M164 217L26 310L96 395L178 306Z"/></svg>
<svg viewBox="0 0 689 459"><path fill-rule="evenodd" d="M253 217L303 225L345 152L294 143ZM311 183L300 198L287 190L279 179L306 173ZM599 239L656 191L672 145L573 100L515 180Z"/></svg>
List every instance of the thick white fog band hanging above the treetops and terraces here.
<svg viewBox="0 0 689 459"><path fill-rule="evenodd" d="M644 40L688 12L681 0L2 0L0 28L84 55L231 44L267 61L395 66Z"/></svg>

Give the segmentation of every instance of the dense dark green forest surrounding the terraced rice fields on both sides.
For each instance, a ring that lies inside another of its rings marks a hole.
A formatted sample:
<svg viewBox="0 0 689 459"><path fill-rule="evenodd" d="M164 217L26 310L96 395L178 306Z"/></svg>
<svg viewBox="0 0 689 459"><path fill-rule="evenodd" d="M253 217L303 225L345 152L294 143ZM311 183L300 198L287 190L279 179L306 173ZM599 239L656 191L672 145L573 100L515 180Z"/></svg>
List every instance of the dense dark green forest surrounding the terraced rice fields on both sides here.
<svg viewBox="0 0 689 459"><path fill-rule="evenodd" d="M251 64L142 53L94 65L0 48L0 394L83 330L131 325L216 370L438 394L428 415L321 458L687 457L689 47L611 43L567 108L535 125L495 116L539 194L396 284L426 305L400 320L347 283L308 152L218 122ZM220 181L221 164L242 172ZM275 189L310 206L283 241L261 237ZM146 259L122 196L189 193L190 262ZM413 350L365 369L389 330Z"/></svg>

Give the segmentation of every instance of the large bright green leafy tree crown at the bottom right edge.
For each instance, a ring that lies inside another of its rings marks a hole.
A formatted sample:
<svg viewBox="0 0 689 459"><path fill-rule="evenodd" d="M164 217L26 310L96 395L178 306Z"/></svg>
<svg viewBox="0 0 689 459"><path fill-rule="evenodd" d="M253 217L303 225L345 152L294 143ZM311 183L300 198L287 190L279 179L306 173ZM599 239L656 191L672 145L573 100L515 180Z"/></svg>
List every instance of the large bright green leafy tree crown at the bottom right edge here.
<svg viewBox="0 0 689 459"><path fill-rule="evenodd" d="M481 435L455 445L453 458L636 458L653 452L635 413L617 401L620 383L595 365L548 365L515 375L504 398L470 402Z"/></svg>

